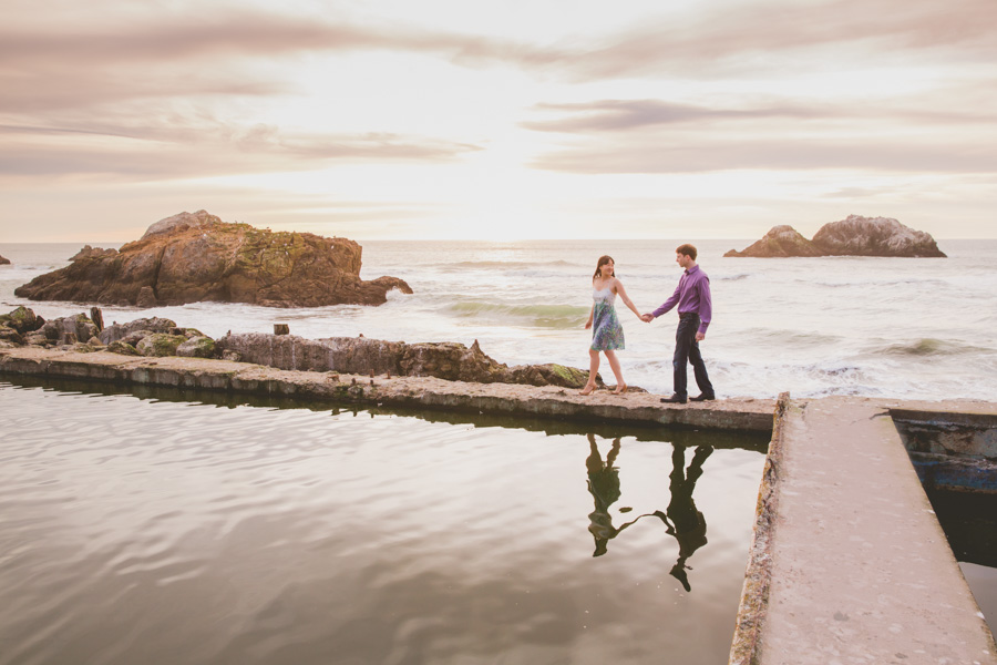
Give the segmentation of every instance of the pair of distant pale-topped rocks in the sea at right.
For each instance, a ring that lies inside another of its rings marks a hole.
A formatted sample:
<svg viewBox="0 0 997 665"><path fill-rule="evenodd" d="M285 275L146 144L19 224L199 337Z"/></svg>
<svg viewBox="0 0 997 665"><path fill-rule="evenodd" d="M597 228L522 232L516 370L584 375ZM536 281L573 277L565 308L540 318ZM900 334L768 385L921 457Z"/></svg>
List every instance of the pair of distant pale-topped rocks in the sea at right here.
<svg viewBox="0 0 997 665"><path fill-rule="evenodd" d="M945 257L931 234L914 231L891 217L849 215L825 224L812 241L792 226L773 226L769 233L742 252L731 249L723 256L901 256Z"/></svg>

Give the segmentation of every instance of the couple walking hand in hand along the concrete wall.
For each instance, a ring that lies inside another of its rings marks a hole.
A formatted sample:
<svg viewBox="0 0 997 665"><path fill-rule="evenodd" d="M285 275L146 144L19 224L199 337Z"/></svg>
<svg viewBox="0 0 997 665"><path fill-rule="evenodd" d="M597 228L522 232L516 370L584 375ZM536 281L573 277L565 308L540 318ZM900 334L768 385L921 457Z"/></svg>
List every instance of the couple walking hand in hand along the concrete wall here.
<svg viewBox="0 0 997 665"><path fill-rule="evenodd" d="M588 349L590 358L588 368L588 381L580 395L590 395L596 388L596 374L599 370L599 352L606 354L609 367L616 376L616 389L613 395L623 395L627 391L627 385L619 369L619 359L616 350L624 347L623 326L616 317L616 296L646 324L651 323L662 314L678 306L679 325L675 334L674 388L672 396L661 398L662 402L686 403L690 398L687 391L686 365L692 364L692 372L700 395L691 398L692 401L707 401L716 399L713 386L707 375L702 354L699 352L699 342L706 338L707 327L712 318L712 299L710 297L710 278L696 263L696 247L692 245L679 245L675 249L675 263L683 268L678 287L671 297L665 300L660 307L649 314L640 314L637 306L627 297L623 283L616 278L615 265L609 256L600 256L596 264L595 275L592 277L592 311L585 328L592 328L592 346Z"/></svg>

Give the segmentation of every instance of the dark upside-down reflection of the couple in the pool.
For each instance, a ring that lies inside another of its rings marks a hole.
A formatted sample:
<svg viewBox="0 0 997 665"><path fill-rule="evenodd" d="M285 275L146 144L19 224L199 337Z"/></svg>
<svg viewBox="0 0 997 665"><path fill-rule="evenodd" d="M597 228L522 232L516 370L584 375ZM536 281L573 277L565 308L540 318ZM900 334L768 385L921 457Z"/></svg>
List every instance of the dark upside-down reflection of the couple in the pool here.
<svg viewBox="0 0 997 665"><path fill-rule="evenodd" d="M658 518L665 523L667 533L675 536L679 545L678 561L670 571L671 575L682 583L686 591L690 591L686 561L707 542L706 519L696 509L692 490L696 489L696 481L702 475L702 463L713 452L712 447L698 446L689 468L686 469L686 447L675 443L671 453L672 471L669 475L671 500L666 512L656 510L638 515L620 526L614 526L609 507L619 499L619 469L613 466L619 454L619 439L613 440L613 447L605 462L594 434L588 434L588 444L590 452L585 460L585 467L588 469L588 491L595 500L595 510L588 515L590 520L588 531L592 532L596 545L593 556L605 554L609 541L641 518ZM627 511L629 509L620 509L620 512Z"/></svg>

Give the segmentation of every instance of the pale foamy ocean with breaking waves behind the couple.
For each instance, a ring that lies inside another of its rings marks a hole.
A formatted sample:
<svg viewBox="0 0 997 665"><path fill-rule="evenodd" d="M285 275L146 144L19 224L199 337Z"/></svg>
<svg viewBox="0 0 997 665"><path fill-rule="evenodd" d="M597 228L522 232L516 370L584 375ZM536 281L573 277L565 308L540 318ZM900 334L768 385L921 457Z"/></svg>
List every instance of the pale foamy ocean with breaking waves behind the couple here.
<svg viewBox="0 0 997 665"><path fill-rule="evenodd" d="M477 340L507 365L588 366L596 260L609 254L641 311L678 283L676 241L389 242L360 241L361 277L401 277L380 307L274 309L198 303L154 309L104 307L104 320L162 316L218 337L271 332L289 324L307 338ZM692 241L710 276L713 321L701 348L722 397L852 395L997 400L997 241L942 241L948 258L724 258L751 241ZM117 244L90 243L116 247ZM4 244L0 304L50 318L89 310L13 295L37 275L68 265L82 244ZM631 386L671 391L676 315L644 324L620 300L619 352ZM605 360L600 368L615 382ZM691 374L690 374L691 380ZM691 388L695 391L695 387Z"/></svg>

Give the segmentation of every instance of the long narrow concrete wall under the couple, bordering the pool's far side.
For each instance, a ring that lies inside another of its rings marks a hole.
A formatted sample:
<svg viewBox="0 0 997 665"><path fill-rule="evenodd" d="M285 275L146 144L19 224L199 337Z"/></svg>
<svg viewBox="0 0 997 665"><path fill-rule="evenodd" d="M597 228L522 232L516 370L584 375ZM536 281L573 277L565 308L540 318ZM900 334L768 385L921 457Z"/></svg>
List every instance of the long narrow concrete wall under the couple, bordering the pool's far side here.
<svg viewBox="0 0 997 665"><path fill-rule="evenodd" d="M361 377L281 370L246 362L196 358L136 358L48 349L0 350L0 375L22 375L120 385L165 386L246 395L281 396L382 407L471 411L567 420L665 424L768 432L771 400L666 407L652 395L589 396L574 390L510 383L467 383L431 377ZM335 378L333 378L335 377ZM713 406L716 405L716 406Z"/></svg>

